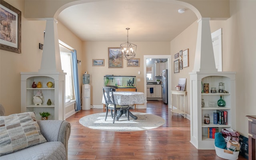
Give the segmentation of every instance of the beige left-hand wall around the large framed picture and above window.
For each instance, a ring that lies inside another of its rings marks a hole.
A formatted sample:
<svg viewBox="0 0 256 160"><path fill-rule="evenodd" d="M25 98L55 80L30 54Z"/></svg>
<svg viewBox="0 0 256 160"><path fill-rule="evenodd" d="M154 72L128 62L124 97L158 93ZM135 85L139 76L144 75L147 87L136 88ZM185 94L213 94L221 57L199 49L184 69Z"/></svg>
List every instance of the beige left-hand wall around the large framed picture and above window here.
<svg viewBox="0 0 256 160"><path fill-rule="evenodd" d="M0 103L6 115L21 112L20 72L38 72L41 67L42 50L38 44L44 44L46 21L32 21L24 18L24 1L6 0L22 12L21 54L0 50ZM76 48L78 58L82 56L82 42L61 23L58 23L60 40ZM80 68L78 68L80 72ZM82 73L81 73L82 74Z"/></svg>

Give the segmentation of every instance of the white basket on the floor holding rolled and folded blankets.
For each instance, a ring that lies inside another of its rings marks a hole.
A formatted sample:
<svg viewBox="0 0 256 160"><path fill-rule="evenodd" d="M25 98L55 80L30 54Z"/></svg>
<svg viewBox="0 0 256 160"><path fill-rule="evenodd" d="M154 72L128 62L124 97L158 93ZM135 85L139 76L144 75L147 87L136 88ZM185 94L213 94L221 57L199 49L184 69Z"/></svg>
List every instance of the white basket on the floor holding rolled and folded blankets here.
<svg viewBox="0 0 256 160"><path fill-rule="evenodd" d="M220 158L224 158L226 160L237 160L238 159L239 151L233 152L231 150L225 150L222 148L218 148L216 146L215 146L215 151L216 151L217 156L219 156Z"/></svg>

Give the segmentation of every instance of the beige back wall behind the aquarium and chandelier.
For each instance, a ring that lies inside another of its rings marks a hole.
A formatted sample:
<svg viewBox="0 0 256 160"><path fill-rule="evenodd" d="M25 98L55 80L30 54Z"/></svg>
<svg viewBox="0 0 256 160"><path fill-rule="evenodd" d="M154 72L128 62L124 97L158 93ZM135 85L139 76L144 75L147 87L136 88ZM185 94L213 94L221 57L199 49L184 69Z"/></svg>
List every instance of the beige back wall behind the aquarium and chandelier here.
<svg viewBox="0 0 256 160"><path fill-rule="evenodd" d="M108 68L108 47L120 47L123 42L84 42L83 72L90 74L91 104L102 105L103 78L107 74L115 76L136 76L138 92L144 92L144 55L170 55L170 42L133 42L137 45L136 58L140 58L140 67L127 67L126 60L123 68ZM92 66L92 59L104 59L105 66ZM85 66L84 66L85 65ZM138 74L138 71L141 74Z"/></svg>

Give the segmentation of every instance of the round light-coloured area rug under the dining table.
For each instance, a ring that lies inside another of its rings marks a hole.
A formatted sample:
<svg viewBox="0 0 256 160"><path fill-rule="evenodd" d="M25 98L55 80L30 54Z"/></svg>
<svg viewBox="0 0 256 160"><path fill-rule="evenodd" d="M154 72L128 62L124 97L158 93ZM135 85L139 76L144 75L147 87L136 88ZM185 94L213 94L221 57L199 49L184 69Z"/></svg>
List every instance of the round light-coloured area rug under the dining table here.
<svg viewBox="0 0 256 160"><path fill-rule="evenodd" d="M106 112L102 112L84 116L79 120L79 122L88 128L115 132L150 130L152 128L162 126L165 123L165 120L160 116L143 112L132 112L132 114L138 117L137 120L130 117L130 121L128 121L127 117L122 115L122 117L120 117L118 121L115 120L115 123L113 124L110 112L108 114L106 121Z"/></svg>

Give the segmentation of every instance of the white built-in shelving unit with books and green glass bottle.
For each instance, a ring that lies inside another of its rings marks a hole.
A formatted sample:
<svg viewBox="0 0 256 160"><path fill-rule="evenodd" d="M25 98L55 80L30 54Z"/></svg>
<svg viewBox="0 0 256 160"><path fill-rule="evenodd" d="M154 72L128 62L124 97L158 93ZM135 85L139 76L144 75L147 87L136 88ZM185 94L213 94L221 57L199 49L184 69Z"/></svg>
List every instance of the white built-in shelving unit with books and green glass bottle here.
<svg viewBox="0 0 256 160"><path fill-rule="evenodd" d="M225 84L228 93L202 93L202 84L208 83L209 88L218 88L219 82ZM190 99L191 112L194 114L190 120L190 142L197 149L214 149L214 139L208 138L208 128L232 128L236 130L236 104L235 104L235 73L234 72L192 72L190 73ZM226 101L226 106L219 107L217 101L220 96ZM202 106L204 99L204 106ZM224 110L227 112L227 124L214 124L214 112ZM204 114L209 114L210 124L204 124Z"/></svg>

